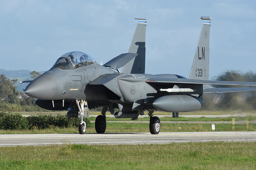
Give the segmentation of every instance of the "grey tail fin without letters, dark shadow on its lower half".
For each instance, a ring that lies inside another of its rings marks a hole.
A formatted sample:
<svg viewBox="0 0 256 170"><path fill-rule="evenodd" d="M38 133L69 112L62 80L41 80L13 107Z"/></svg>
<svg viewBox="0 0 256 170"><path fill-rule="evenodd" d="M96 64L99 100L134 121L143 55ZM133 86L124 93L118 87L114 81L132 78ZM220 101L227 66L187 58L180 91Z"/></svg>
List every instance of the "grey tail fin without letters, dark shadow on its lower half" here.
<svg viewBox="0 0 256 170"><path fill-rule="evenodd" d="M146 39L146 19L135 18L138 21L133 40L128 53L139 54L135 59L123 66L122 73L145 73L145 39Z"/></svg>

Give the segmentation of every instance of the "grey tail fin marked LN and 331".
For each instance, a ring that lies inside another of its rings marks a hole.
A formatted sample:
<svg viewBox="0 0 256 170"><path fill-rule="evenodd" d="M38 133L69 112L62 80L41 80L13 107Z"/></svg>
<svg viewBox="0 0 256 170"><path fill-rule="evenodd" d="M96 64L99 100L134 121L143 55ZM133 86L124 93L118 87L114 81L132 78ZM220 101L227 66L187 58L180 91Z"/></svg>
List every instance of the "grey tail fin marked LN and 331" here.
<svg viewBox="0 0 256 170"><path fill-rule="evenodd" d="M195 58L190 71L189 79L208 80L209 78L209 38L211 17L201 17L203 27L197 44Z"/></svg>

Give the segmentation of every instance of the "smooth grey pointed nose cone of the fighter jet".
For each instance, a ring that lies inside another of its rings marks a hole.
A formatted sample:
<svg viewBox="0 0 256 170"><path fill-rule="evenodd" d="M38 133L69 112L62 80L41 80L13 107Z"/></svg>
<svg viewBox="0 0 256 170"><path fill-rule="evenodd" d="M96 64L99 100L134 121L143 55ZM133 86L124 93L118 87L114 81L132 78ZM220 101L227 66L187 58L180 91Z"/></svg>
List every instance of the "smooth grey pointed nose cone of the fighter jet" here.
<svg viewBox="0 0 256 170"><path fill-rule="evenodd" d="M51 100L57 91L57 82L50 74L42 74L25 89L25 94L36 98Z"/></svg>

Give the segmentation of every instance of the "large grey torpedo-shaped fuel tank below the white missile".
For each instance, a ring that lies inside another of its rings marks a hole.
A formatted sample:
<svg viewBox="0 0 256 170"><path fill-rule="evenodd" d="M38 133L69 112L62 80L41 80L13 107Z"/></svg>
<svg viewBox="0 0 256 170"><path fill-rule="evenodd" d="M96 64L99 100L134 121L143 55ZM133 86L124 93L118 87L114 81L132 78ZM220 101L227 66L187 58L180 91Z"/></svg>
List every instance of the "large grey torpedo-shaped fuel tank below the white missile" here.
<svg viewBox="0 0 256 170"><path fill-rule="evenodd" d="M191 112L200 109L205 102L190 95L166 95L157 98L152 105L165 112Z"/></svg>

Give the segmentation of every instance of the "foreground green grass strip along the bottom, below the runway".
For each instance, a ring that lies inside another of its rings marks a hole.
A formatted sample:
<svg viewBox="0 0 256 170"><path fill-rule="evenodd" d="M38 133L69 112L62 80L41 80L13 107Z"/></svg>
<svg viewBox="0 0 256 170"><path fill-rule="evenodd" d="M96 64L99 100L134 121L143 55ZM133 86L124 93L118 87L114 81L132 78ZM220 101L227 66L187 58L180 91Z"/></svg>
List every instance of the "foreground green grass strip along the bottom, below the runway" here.
<svg viewBox="0 0 256 170"><path fill-rule="evenodd" d="M0 147L0 169L256 169L256 142Z"/></svg>

